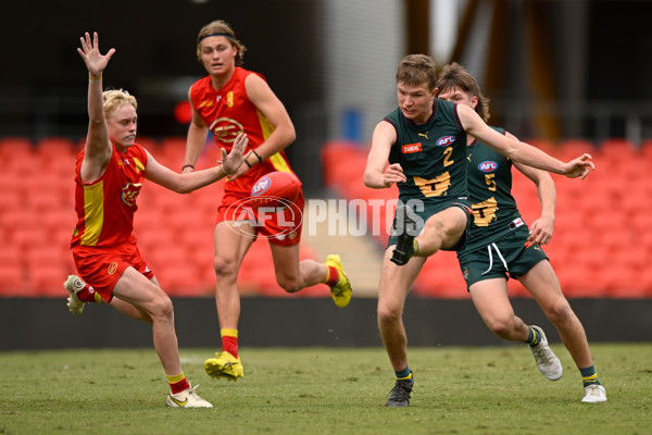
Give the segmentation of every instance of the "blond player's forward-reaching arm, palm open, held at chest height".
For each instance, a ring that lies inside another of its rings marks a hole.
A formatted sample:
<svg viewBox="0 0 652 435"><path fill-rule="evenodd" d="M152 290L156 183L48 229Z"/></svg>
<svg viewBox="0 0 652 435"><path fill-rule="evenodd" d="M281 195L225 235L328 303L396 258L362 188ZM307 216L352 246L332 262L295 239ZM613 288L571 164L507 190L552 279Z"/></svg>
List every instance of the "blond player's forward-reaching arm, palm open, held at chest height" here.
<svg viewBox="0 0 652 435"><path fill-rule="evenodd" d="M147 179L156 183L163 187L174 190L177 194L189 194L201 187L215 183L225 176L233 174L240 167L244 160L244 149L249 144L249 138L244 134L239 134L234 141L231 151L227 154L224 148L221 149L222 164L203 171L188 172L178 174L171 169L159 163L148 152L147 167L145 176Z"/></svg>

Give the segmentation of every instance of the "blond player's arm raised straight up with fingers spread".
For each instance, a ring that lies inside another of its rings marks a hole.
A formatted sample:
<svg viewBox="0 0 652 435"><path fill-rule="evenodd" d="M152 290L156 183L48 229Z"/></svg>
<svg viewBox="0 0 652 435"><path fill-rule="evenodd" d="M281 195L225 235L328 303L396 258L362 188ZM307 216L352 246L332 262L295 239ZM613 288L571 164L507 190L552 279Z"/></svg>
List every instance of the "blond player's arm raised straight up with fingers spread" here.
<svg viewBox="0 0 652 435"><path fill-rule="evenodd" d="M90 183L104 173L113 151L102 100L102 72L115 53L115 49L112 48L106 54L100 53L97 32L92 34L92 39L88 33L79 39L82 48L77 48L77 52L88 70L88 133L80 175L84 182Z"/></svg>

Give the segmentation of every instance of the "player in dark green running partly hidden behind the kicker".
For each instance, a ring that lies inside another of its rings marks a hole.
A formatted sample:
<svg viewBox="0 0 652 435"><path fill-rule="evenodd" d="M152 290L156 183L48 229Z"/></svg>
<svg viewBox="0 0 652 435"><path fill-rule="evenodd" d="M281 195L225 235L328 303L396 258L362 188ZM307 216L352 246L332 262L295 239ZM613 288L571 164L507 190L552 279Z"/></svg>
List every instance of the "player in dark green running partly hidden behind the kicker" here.
<svg viewBox="0 0 652 435"><path fill-rule="evenodd" d="M443 66L437 88L438 98L467 105L485 122L489 120L489 99L462 65L453 62ZM502 128L492 128L513 137ZM582 402L605 401L606 390L598 380L584 326L540 246L550 243L554 228L556 194L552 177L513 162L473 136L468 137L467 153L474 221L471 241L457 252L457 259L478 313L499 337L527 343L539 371L551 381L559 380L562 364L550 349L543 330L525 324L510 303L507 279L518 279L557 328L579 369L585 388ZM537 185L541 214L529 228L512 196L513 166Z"/></svg>

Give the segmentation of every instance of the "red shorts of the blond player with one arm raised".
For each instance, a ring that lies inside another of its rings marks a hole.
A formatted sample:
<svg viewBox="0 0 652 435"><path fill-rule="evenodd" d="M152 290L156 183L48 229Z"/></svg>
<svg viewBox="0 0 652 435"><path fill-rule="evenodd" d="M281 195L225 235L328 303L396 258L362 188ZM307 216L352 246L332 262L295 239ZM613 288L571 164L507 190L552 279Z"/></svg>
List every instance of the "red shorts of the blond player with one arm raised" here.
<svg viewBox="0 0 652 435"><path fill-rule="evenodd" d="M92 286L106 303L113 298L113 287L125 269L131 266L148 279L154 277L133 241L110 248L77 245L73 247L73 258L82 279Z"/></svg>

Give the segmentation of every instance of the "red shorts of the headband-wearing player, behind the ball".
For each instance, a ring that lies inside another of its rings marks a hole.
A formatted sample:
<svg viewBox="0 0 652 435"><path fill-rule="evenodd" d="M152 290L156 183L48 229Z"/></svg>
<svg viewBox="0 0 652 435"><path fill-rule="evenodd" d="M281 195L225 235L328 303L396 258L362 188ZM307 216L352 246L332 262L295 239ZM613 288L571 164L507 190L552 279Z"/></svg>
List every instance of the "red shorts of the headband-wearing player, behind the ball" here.
<svg viewBox="0 0 652 435"><path fill-rule="evenodd" d="M231 231L250 236L238 231L238 222L249 221L256 232L255 237L266 238L273 245L293 246L301 241L305 206L303 191L299 190L294 202L283 209L255 209L250 206L250 199L248 196L225 192L217 208L216 224L227 222Z"/></svg>

